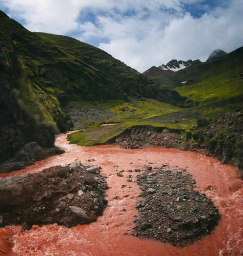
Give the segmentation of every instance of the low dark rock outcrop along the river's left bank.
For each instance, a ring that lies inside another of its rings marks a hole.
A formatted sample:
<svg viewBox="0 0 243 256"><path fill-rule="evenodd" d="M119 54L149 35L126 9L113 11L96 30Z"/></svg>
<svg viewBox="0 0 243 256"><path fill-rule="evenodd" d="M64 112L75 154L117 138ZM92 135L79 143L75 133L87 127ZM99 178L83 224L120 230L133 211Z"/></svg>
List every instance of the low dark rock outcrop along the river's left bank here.
<svg viewBox="0 0 243 256"><path fill-rule="evenodd" d="M4 163L0 164L0 173L24 169L26 166L34 164L36 161L45 159L53 154L64 153L58 148L43 149L37 142L25 144L15 155Z"/></svg>

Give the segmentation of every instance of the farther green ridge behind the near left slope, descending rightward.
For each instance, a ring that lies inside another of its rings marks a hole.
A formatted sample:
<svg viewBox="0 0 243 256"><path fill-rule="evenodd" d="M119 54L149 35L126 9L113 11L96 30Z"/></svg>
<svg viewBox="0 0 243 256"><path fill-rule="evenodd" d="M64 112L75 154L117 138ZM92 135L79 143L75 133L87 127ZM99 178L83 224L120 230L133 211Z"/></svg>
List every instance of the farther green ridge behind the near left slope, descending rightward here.
<svg viewBox="0 0 243 256"><path fill-rule="evenodd" d="M68 36L47 33L35 34L55 45L64 53L72 55L74 58L81 59L88 65L100 70L105 75L106 79L110 83L112 82L115 84L115 88L122 92L122 95L120 96L119 91L115 91L109 99L121 99L122 97L126 98L127 96L143 96L180 107L190 107L196 104L186 98L182 98L174 91L162 88L153 80L146 78L135 69L128 67L120 60L113 58L110 54L97 47L80 42ZM97 97L93 95L92 100L97 100ZM107 98L105 100L107 100Z"/></svg>

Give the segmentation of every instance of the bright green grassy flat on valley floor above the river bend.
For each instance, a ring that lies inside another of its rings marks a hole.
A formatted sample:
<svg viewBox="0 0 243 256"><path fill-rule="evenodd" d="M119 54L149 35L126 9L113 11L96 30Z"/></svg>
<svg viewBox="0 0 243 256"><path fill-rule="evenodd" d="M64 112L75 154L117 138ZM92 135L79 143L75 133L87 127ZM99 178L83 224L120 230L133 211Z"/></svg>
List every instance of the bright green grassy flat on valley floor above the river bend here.
<svg viewBox="0 0 243 256"><path fill-rule="evenodd" d="M107 140L112 137L120 134L124 129L133 126L133 125L141 125L141 124L150 124L151 122L147 122L146 118L151 118L153 116L158 116L162 112L164 114L173 113L176 111L182 110L182 108L169 105L163 102L159 102L152 99L144 99L137 100L134 99L132 102L124 102L124 101L115 101L111 100L106 103L99 102L71 102L70 105L80 104L86 105L87 107L92 108L94 104L99 107L104 107L110 111L116 113L114 117L109 120L109 122L118 122L118 124L111 126L100 126L100 123L92 124L90 123L91 128L85 129L83 132L74 132L68 135L68 138L71 143L77 143L82 146L92 146L96 144L105 143ZM128 107L129 110L121 111L119 110L122 107ZM143 121L144 120L144 121ZM142 123L141 123L142 122ZM89 120L84 121L83 123L89 124ZM153 124L155 126L163 126L163 124ZM165 125L164 125L165 126ZM179 126L176 126L179 127Z"/></svg>

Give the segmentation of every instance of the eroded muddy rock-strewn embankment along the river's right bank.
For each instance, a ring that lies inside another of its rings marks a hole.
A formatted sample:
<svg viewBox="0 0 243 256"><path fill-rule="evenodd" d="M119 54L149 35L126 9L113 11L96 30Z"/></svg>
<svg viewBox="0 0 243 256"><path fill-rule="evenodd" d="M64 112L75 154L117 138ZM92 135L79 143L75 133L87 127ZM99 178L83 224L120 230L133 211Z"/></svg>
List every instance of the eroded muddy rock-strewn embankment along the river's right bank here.
<svg viewBox="0 0 243 256"><path fill-rule="evenodd" d="M126 149L162 147L195 151L238 167L237 175L243 179L243 115L240 112L226 113L218 119L199 119L197 126L191 126L190 131L133 126L107 144L118 144Z"/></svg>

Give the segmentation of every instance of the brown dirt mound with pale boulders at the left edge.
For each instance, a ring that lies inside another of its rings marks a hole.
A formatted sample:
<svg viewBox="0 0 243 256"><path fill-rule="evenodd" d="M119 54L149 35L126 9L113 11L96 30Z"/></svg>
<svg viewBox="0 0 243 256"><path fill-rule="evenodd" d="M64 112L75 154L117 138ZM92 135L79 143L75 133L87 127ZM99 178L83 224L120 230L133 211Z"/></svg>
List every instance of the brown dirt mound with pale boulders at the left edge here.
<svg viewBox="0 0 243 256"><path fill-rule="evenodd" d="M0 226L67 227L96 221L106 207L107 183L99 167L54 166L39 173L0 179Z"/></svg>

